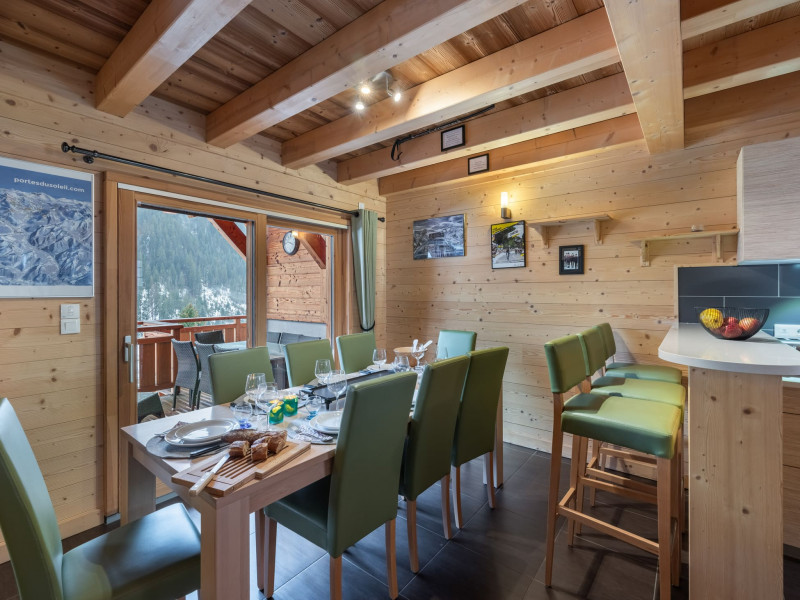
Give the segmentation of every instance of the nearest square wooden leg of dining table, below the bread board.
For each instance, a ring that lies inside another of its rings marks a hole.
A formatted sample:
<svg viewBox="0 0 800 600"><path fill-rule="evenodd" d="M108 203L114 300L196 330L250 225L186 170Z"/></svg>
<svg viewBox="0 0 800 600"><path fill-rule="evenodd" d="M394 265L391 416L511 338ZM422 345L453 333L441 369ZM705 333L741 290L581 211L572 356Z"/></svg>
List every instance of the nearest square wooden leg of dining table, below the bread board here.
<svg viewBox="0 0 800 600"><path fill-rule="evenodd" d="M215 502L209 500L209 502ZM250 513L246 501L200 507L200 599L249 600Z"/></svg>

